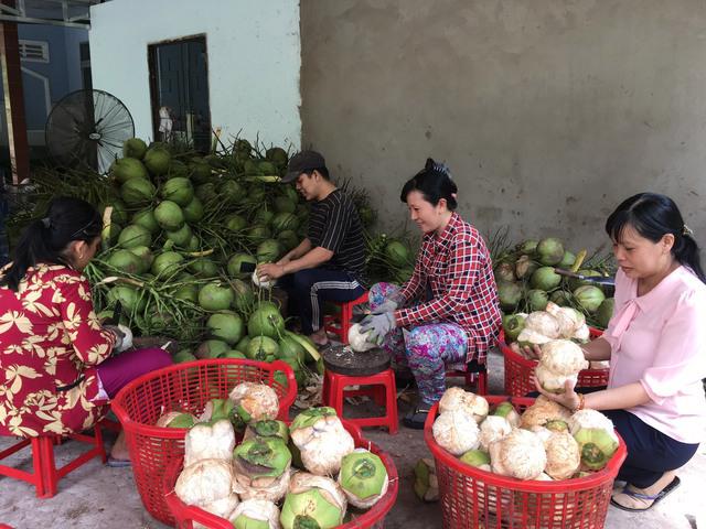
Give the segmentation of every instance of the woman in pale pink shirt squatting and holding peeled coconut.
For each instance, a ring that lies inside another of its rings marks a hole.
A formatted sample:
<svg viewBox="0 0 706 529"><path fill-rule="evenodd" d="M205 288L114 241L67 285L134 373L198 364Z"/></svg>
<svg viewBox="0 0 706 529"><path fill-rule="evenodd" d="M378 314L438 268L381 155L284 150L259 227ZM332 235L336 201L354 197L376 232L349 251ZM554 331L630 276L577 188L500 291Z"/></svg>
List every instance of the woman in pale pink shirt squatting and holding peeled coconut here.
<svg viewBox="0 0 706 529"><path fill-rule="evenodd" d="M625 441L624 481L611 504L646 510L676 488L675 469L696 453L706 424L706 278L698 246L674 202L631 196L608 217L616 309L606 333L584 346L588 360L610 359L608 387L561 395L571 410L602 411Z"/></svg>

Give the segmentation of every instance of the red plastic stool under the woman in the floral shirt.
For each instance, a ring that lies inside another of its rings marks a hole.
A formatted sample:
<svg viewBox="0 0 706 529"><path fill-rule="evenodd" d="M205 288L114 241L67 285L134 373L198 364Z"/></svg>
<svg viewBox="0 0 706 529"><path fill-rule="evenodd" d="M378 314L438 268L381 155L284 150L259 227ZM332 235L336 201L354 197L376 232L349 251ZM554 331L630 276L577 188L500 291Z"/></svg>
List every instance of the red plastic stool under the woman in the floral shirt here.
<svg viewBox="0 0 706 529"><path fill-rule="evenodd" d="M23 439L12 446L0 452L0 461L19 452L25 446L32 446L32 466L34 472L20 471L12 466L0 465L0 476L8 476L15 479L22 479L36 489L38 498L51 498L56 494L58 481L72 471L75 471L84 463L100 457L105 463L107 461L106 451L103 446L103 434L100 433L100 423L94 427L94 436L83 433L73 433L67 439L79 441L92 445L92 449L84 452L73 461L66 463L61 468L56 468L54 462L54 445L60 444L60 435L40 435L39 438Z"/></svg>

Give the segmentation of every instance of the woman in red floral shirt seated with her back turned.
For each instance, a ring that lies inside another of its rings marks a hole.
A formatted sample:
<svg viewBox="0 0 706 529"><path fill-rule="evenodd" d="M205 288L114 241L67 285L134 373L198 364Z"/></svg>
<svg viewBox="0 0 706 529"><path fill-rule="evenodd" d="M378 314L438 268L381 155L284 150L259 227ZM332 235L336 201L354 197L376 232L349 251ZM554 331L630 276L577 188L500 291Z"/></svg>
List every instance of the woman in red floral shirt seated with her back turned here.
<svg viewBox="0 0 706 529"><path fill-rule="evenodd" d="M90 204L57 198L26 228L0 276L0 434L92 428L125 384L171 364L161 349L110 357L125 334L100 325L82 274L101 227ZM111 456L128 458L121 436Z"/></svg>

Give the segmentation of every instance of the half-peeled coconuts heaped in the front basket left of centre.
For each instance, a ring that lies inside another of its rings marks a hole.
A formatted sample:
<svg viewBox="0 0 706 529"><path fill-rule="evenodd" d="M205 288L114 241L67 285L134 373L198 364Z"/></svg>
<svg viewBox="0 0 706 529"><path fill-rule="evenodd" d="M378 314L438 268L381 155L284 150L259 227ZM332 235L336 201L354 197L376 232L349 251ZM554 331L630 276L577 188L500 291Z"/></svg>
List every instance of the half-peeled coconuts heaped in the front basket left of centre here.
<svg viewBox="0 0 706 529"><path fill-rule="evenodd" d="M355 449L332 408L306 410L290 425L278 414L272 388L242 382L199 414L162 415L158 427L190 429L176 496L238 528L325 529L385 495L383 461Z"/></svg>

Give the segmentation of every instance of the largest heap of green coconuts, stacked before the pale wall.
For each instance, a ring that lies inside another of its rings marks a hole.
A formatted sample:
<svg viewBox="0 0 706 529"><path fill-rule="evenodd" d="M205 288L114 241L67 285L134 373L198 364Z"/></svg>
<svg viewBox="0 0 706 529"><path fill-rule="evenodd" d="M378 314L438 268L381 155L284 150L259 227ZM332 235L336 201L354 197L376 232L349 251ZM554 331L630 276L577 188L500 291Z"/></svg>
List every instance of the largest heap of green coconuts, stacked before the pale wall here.
<svg viewBox="0 0 706 529"><path fill-rule="evenodd" d="M136 334L182 346L175 361L282 359L301 384L319 355L285 328L281 296L252 281L306 235L308 206L279 182L287 152L237 140L226 154L185 158L130 139L124 154L108 175L103 251L86 270L100 315L119 302Z"/></svg>

